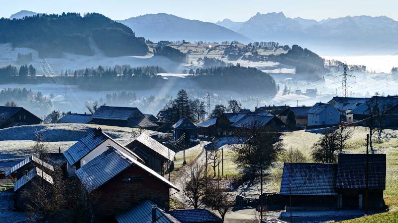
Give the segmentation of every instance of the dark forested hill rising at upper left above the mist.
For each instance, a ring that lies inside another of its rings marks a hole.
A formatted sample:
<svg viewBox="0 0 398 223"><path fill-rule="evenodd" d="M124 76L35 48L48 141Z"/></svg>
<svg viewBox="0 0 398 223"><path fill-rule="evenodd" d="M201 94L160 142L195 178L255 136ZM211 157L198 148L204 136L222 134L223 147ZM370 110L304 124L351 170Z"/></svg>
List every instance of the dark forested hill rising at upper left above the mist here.
<svg viewBox="0 0 398 223"><path fill-rule="evenodd" d="M62 52L93 55L93 42L105 56L145 55L145 39L127 26L99 13L42 14L23 19L0 19L0 43L27 47L39 56L60 57Z"/></svg>

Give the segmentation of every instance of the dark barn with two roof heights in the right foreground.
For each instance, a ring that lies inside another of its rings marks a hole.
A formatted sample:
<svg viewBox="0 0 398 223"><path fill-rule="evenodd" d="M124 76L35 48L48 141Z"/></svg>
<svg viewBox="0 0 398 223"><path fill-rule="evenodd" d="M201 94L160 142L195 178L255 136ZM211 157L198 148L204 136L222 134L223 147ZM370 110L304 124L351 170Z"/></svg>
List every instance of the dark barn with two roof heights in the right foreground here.
<svg viewBox="0 0 398 223"><path fill-rule="evenodd" d="M337 164L285 163L280 194L293 209L364 209L366 154L340 153ZM368 155L371 209L385 207L386 155Z"/></svg>

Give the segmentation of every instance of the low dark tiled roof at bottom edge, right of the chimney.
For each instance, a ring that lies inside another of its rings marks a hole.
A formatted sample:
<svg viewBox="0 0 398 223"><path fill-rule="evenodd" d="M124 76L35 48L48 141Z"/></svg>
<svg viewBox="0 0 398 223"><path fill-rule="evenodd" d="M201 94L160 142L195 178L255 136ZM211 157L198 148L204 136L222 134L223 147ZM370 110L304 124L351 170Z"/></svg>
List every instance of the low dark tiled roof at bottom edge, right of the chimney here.
<svg viewBox="0 0 398 223"><path fill-rule="evenodd" d="M213 222L222 223L223 220L206 209L170 210L170 215L181 223Z"/></svg>

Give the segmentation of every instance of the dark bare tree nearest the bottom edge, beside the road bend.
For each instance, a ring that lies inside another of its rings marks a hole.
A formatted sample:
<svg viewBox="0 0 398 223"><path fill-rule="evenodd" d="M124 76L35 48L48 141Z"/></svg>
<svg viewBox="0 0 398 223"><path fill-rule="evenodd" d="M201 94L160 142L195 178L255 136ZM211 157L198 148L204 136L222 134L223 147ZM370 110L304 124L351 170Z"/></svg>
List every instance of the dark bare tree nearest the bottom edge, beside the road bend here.
<svg viewBox="0 0 398 223"><path fill-rule="evenodd" d="M207 183L206 192L203 196L206 206L217 211L222 220L224 220L225 215L231 210L231 201L225 191L226 188L222 186L221 180L212 180Z"/></svg>

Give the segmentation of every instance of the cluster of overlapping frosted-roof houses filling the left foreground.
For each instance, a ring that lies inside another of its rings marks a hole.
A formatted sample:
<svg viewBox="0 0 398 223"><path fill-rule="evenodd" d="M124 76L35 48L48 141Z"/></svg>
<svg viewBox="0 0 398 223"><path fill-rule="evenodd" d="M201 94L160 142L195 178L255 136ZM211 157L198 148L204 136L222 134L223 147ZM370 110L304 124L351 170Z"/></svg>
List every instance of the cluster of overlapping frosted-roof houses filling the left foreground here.
<svg viewBox="0 0 398 223"><path fill-rule="evenodd" d="M171 189L180 189L163 177L175 152L145 133L121 145L95 128L65 152L43 157L0 160L2 177L15 180L15 207L25 211L35 183L55 184L55 172L76 177L86 194L96 193L92 207L97 221L116 223L222 223L205 209L170 209ZM40 184L42 185L42 184Z"/></svg>

